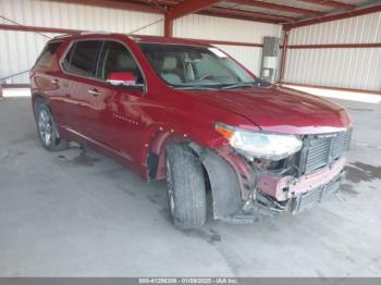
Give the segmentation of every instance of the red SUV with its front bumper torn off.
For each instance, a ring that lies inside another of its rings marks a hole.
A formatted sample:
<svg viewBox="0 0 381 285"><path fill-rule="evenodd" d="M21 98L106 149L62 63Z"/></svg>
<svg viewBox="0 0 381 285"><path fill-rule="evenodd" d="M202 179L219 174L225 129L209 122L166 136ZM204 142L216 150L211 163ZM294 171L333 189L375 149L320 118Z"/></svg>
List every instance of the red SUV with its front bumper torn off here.
<svg viewBox="0 0 381 285"><path fill-rule="evenodd" d="M167 178L173 222L297 213L339 191L345 110L270 85L197 41L77 34L50 40L30 72L40 140L75 140L145 181Z"/></svg>

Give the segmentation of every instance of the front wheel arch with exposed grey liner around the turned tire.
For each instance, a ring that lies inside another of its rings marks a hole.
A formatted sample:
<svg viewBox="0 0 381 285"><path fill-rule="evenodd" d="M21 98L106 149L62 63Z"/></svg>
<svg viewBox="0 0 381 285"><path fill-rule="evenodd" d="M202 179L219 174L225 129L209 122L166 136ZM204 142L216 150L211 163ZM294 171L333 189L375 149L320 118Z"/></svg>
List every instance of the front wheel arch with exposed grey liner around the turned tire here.
<svg viewBox="0 0 381 285"><path fill-rule="evenodd" d="M208 141L210 142L210 141ZM206 183L212 190L212 211L214 219L224 219L242 206L238 174L231 161L219 156L210 145L202 144L197 136L174 128L158 128L147 145L147 179L165 178L165 148L172 144L187 144L200 160L205 170Z"/></svg>

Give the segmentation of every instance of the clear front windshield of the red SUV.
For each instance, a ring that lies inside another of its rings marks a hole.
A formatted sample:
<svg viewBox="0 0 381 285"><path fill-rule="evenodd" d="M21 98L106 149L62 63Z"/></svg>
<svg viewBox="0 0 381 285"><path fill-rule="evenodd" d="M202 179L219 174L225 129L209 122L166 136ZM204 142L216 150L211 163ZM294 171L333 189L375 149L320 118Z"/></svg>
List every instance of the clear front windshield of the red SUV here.
<svg viewBox="0 0 381 285"><path fill-rule="evenodd" d="M156 73L176 88L253 86L256 78L217 48L140 44Z"/></svg>

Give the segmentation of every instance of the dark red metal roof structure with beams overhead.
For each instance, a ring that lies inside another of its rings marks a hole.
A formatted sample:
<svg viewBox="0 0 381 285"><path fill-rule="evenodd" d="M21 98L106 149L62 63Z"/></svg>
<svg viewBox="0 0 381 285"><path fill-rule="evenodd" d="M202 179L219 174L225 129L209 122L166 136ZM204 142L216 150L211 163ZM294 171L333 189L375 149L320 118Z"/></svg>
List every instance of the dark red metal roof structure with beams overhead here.
<svg viewBox="0 0 381 285"><path fill-rule="evenodd" d="M165 36L173 21L192 14L281 24L286 28L311 25L381 11L381 0L66 0L115 9L162 13Z"/></svg>

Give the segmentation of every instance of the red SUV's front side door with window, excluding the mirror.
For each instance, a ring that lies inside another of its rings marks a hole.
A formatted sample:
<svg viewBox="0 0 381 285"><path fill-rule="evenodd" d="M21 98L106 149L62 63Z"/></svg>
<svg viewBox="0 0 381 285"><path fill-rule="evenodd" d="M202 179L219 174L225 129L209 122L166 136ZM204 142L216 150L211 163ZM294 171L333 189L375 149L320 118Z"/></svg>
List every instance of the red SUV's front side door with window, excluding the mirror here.
<svg viewBox="0 0 381 285"><path fill-rule="evenodd" d="M130 162L137 160L142 147L144 115L140 106L144 88L113 86L107 80L113 74L133 74L136 84L144 84L135 58L124 44L105 41L98 62L99 94L94 97L93 111L88 113L91 138L118 152Z"/></svg>

